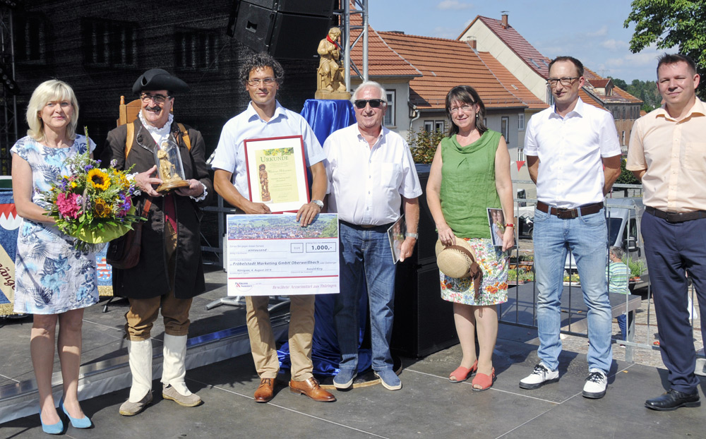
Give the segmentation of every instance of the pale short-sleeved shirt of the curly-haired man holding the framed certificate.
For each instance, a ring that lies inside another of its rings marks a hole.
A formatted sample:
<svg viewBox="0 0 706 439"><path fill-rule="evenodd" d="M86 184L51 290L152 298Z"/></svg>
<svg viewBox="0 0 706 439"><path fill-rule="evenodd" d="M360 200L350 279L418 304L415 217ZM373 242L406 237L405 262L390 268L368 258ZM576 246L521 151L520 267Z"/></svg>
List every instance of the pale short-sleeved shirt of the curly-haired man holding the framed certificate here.
<svg viewBox="0 0 706 439"><path fill-rule="evenodd" d="M232 172L232 183L241 196L250 199L245 157L245 140L281 136L302 136L304 138L304 160L306 166L325 159L321 143L316 134L301 115L292 112L277 102L272 119L265 122L253 108L248 108L230 119L223 126L211 167Z"/></svg>

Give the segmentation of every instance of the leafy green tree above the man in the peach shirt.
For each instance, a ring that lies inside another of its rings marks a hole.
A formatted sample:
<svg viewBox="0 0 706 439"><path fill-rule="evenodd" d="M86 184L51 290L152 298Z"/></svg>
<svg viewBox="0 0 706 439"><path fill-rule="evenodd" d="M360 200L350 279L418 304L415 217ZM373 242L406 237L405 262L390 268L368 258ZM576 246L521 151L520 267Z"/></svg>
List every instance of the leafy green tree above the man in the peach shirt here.
<svg viewBox="0 0 706 439"><path fill-rule="evenodd" d="M635 23L630 52L656 44L657 49L677 47L690 56L698 73L706 73L706 0L633 0L633 11L623 25ZM704 88L696 90L706 99Z"/></svg>

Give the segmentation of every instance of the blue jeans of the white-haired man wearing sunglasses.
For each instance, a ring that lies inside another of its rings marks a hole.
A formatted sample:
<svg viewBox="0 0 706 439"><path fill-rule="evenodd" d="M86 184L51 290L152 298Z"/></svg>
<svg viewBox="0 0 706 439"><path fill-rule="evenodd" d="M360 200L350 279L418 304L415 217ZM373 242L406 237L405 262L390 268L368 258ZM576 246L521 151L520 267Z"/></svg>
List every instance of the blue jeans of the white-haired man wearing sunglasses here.
<svg viewBox="0 0 706 439"><path fill-rule="evenodd" d="M395 301L395 263L393 263L387 226L350 227L340 224L340 293L333 309L341 349L339 368L358 367L359 291L368 291L373 370L393 369L390 338L393 334Z"/></svg>

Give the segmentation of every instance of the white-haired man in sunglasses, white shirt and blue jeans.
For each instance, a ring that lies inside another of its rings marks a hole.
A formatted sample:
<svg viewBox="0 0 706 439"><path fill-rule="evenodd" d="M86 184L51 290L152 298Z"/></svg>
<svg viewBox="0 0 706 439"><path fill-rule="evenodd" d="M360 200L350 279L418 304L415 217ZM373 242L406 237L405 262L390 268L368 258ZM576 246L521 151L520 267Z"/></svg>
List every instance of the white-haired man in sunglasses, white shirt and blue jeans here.
<svg viewBox="0 0 706 439"><path fill-rule="evenodd" d="M335 131L323 143L329 211L338 213L341 241L341 289L334 306L341 361L333 383L346 389L358 373L358 303L365 281L373 371L386 389L397 390L402 382L390 355L395 261L387 230L400 218L403 207L407 233L400 260L409 258L417 242L421 185L407 142L383 126L385 89L364 82L351 101L357 124Z"/></svg>

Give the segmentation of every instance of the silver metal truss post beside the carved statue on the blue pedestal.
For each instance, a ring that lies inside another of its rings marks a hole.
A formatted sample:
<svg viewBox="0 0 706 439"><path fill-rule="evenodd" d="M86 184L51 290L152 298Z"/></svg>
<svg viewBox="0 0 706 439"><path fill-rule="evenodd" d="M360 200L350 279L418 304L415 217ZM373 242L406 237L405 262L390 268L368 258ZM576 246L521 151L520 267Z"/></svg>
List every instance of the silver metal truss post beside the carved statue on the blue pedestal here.
<svg viewBox="0 0 706 439"><path fill-rule="evenodd" d="M368 0L341 0L343 8L334 11L334 16L340 16L342 25L341 45L345 48L343 68L345 70L346 90L351 91L351 69L357 73L361 80L368 80ZM360 14L363 18L362 25L351 25L351 15ZM351 42L351 30L361 30L356 39ZM360 68L351 59L351 49L363 39L362 73Z"/></svg>

